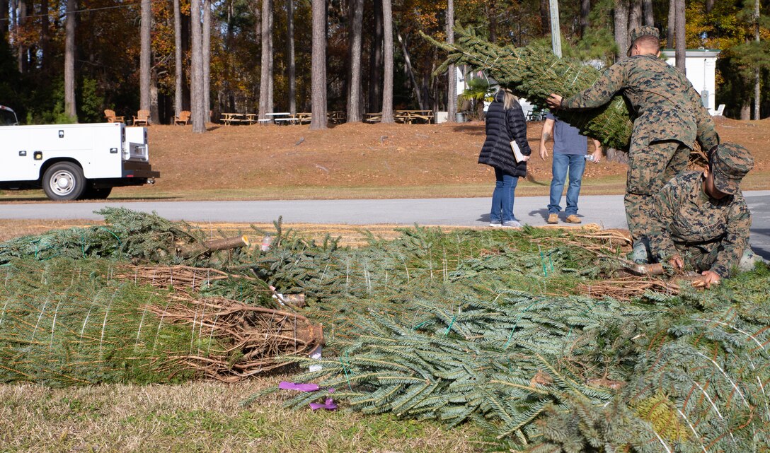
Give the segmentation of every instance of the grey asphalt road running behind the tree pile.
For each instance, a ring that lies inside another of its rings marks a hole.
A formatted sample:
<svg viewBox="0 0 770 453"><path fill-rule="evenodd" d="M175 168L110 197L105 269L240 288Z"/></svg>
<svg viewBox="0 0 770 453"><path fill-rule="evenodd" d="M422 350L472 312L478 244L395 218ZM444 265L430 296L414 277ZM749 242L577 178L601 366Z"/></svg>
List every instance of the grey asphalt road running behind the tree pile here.
<svg viewBox="0 0 770 453"><path fill-rule="evenodd" d="M752 210L751 244L758 255L770 259L770 191L744 192ZM546 225L547 197L518 197L514 215L525 224ZM268 202L77 202L0 205L5 219L99 219L93 212L105 206L122 206L157 212L171 220L189 222L273 222L347 225L460 225L484 226L489 222L490 198L417 198L396 200L293 200ZM622 195L583 195L578 215L583 223L604 228L628 228Z"/></svg>

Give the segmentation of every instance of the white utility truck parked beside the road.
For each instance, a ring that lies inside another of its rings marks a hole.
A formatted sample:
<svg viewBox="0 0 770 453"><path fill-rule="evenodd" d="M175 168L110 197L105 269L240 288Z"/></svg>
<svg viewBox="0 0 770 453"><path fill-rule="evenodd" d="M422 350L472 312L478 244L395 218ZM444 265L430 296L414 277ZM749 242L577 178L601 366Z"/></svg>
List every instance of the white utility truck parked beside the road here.
<svg viewBox="0 0 770 453"><path fill-rule="evenodd" d="M113 187L154 184L147 128L123 123L20 126L0 105L0 188L41 188L52 200L104 199Z"/></svg>

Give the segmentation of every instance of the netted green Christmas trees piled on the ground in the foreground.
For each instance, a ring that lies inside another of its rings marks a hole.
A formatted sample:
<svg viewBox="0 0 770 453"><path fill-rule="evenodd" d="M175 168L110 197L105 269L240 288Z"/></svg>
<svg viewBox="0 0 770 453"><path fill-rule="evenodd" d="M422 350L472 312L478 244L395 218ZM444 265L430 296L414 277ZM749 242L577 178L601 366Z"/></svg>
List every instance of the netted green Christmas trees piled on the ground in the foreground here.
<svg viewBox="0 0 770 453"><path fill-rule="evenodd" d="M230 381L322 365L294 380L333 394L287 405L331 396L367 413L473 421L521 451L770 445L764 266L711 291L681 283L620 301L595 291L624 266L627 245L604 231L405 228L351 249L276 223L269 250L189 255L210 235L106 214L105 227L0 245L2 381ZM292 293L306 306L281 305ZM244 323L291 341L249 344L233 329ZM321 323L317 361L307 353Z"/></svg>

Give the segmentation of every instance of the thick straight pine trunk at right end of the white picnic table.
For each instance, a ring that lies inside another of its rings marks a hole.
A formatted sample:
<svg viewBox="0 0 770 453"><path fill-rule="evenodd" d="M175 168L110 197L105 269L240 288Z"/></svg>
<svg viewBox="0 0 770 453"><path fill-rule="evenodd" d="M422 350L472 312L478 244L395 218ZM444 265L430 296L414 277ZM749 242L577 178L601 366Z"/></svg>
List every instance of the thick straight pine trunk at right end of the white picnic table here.
<svg viewBox="0 0 770 453"><path fill-rule="evenodd" d="M312 99L310 129L326 128L326 1L312 0L313 53L311 55ZM260 112L261 114L261 112Z"/></svg>

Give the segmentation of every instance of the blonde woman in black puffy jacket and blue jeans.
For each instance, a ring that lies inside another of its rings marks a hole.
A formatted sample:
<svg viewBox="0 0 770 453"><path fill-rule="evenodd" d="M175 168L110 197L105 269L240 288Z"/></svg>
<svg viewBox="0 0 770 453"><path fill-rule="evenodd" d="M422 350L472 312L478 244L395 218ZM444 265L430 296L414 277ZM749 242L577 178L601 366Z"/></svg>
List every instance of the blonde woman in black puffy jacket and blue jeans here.
<svg viewBox="0 0 770 453"><path fill-rule="evenodd" d="M511 149L515 140L524 160L516 162ZM497 182L492 192L491 227L521 227L514 218L514 191L518 179L527 175L527 160L531 155L527 143L527 122L521 105L510 91L500 88L487 109L487 140L481 148L479 163L491 165Z"/></svg>

